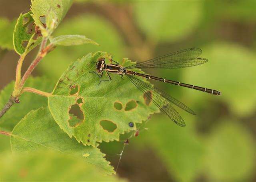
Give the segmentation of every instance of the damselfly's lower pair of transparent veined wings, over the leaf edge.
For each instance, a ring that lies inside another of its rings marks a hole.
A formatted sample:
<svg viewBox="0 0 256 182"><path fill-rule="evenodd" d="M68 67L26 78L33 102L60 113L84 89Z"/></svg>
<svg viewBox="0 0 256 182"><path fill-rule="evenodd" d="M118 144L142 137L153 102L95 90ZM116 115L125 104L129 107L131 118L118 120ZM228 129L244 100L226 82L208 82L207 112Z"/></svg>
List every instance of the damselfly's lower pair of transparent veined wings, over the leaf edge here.
<svg viewBox="0 0 256 182"><path fill-rule="evenodd" d="M182 108L183 110L195 114L188 106L173 98L172 96L164 93L162 90L155 88L154 86L132 76L126 74L126 76L131 80L131 82L144 93L144 95L156 106L164 112L172 121L174 121L179 126L186 126L184 120L180 114L171 106L170 103Z"/></svg>

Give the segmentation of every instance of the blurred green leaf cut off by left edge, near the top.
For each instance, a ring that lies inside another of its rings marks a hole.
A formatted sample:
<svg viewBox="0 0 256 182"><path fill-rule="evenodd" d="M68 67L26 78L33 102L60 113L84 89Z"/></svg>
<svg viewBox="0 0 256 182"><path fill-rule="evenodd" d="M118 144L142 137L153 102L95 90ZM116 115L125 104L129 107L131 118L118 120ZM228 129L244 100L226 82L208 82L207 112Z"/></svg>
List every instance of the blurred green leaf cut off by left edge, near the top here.
<svg viewBox="0 0 256 182"><path fill-rule="evenodd" d="M0 48L13 50L12 31L14 30L16 20L10 22L8 19L1 17L0 22Z"/></svg>

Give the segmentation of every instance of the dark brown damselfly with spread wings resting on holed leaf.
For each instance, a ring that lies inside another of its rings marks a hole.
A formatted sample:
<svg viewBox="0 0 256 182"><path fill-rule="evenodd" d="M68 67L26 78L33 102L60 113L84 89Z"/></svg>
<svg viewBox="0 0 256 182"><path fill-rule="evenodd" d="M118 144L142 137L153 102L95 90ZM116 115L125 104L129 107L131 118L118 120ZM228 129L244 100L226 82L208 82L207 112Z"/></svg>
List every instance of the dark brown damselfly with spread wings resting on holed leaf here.
<svg viewBox="0 0 256 182"><path fill-rule="evenodd" d="M110 73L116 73L120 74L122 76L127 76L127 78L140 90L144 93L144 95L156 106L164 112L172 121L174 121L176 124L184 127L185 122L178 114L178 112L171 106L171 103L182 108L186 112L189 112L190 114L194 114L194 111L192 111L188 106L183 104L182 102L178 101L177 99L173 98L169 94L166 94L162 90L159 90L158 88L155 88L151 84L148 84L135 76L144 77L147 79L157 80L165 83L170 83L178 86L184 86L187 88L192 88L194 90L200 90L202 92L207 92L213 95L220 95L221 92L218 90L213 90L210 88L204 88L200 86L195 86L191 84L185 84L181 82L176 82L172 80L168 80L166 78L159 78L156 76L151 76L148 74L142 74L138 72L134 72L130 69L133 68L140 68L140 69L171 69L171 68L184 68L184 67L193 67L196 65L201 65L206 63L208 60L202 57L199 57L202 53L202 50L199 48L190 48L190 49L184 49L182 51L170 53L168 55L156 57L154 59L150 59L148 61L136 63L134 65L130 65L128 67L122 67L118 65L118 63L112 59L110 61L116 63L116 64L105 64L105 59L101 58L96 62L96 71L94 72L96 75L98 75L100 78L103 75L103 72L106 71L106 74L108 76L108 80L100 80L101 82L104 81L110 81L111 77L108 74ZM100 84L99 83L99 84Z"/></svg>

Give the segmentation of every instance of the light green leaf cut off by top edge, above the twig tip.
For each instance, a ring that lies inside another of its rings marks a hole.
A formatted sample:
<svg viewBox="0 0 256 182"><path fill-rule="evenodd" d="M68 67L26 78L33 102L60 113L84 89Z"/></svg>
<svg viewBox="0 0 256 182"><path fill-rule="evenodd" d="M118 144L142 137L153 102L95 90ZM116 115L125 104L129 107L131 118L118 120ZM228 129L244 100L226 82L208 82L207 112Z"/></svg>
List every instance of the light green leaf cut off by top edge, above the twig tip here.
<svg viewBox="0 0 256 182"><path fill-rule="evenodd" d="M68 12L72 2L72 0L31 0L32 17L37 26L44 26L42 19L46 14L48 14L50 8L52 8L56 13L58 23L60 23Z"/></svg>

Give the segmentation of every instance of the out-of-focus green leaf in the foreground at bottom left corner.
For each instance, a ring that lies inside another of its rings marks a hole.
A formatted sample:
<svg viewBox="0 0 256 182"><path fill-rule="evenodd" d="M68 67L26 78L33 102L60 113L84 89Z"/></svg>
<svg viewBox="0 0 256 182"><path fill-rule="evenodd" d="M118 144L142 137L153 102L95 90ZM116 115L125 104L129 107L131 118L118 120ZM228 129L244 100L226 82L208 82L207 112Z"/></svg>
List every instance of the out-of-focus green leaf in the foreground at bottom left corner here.
<svg viewBox="0 0 256 182"><path fill-rule="evenodd" d="M0 161L1 181L126 181L117 175L100 175L97 167L54 151L1 153Z"/></svg>

